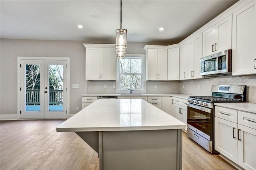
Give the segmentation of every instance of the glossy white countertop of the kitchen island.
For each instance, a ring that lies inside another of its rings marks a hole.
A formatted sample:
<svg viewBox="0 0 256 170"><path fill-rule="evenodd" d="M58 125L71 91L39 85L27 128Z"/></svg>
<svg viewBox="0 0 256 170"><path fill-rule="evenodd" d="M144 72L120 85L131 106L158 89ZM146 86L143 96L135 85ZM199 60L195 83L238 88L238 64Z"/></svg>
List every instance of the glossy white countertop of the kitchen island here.
<svg viewBox="0 0 256 170"><path fill-rule="evenodd" d="M182 129L186 125L142 99L97 100L58 125L58 132Z"/></svg>

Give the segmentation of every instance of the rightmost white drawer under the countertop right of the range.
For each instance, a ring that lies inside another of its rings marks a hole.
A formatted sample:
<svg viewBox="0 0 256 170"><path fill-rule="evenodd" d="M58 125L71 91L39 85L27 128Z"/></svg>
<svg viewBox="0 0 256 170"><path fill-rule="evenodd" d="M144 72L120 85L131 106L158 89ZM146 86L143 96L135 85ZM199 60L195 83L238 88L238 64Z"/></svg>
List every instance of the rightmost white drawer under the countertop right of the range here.
<svg viewBox="0 0 256 170"><path fill-rule="evenodd" d="M238 111L238 124L256 129L256 114Z"/></svg>

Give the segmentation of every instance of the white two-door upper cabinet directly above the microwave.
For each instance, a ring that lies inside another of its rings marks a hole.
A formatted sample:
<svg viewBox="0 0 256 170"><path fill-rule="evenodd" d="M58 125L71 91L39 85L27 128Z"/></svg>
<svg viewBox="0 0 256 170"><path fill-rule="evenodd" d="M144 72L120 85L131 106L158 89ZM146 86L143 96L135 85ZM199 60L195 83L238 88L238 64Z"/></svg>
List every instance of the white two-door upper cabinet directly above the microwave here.
<svg viewBox="0 0 256 170"><path fill-rule="evenodd" d="M232 48L232 15L203 32L203 55Z"/></svg>

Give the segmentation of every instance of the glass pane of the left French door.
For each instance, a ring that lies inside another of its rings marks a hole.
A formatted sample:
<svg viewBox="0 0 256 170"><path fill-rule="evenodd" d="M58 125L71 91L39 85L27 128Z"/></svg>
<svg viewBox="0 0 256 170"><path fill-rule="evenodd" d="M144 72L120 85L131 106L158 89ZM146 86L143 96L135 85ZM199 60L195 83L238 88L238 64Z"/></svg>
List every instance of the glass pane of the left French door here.
<svg viewBox="0 0 256 170"><path fill-rule="evenodd" d="M40 111L40 65L26 64L26 111Z"/></svg>

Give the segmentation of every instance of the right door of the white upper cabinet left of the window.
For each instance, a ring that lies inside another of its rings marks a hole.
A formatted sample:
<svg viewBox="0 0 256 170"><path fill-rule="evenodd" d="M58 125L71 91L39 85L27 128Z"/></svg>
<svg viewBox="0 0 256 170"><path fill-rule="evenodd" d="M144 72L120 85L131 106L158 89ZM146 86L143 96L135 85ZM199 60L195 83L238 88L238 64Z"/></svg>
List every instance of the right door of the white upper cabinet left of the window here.
<svg viewBox="0 0 256 170"><path fill-rule="evenodd" d="M101 48L101 79L116 80L115 48Z"/></svg>

